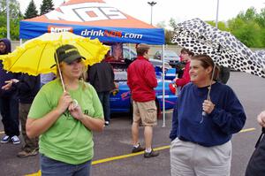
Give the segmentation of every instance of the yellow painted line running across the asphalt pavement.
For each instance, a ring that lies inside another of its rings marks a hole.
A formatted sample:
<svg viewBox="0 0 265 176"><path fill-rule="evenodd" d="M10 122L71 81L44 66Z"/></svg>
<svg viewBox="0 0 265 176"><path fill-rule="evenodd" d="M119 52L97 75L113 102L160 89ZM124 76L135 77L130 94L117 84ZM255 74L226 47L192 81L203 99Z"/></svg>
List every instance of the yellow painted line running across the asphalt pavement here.
<svg viewBox="0 0 265 176"><path fill-rule="evenodd" d="M247 128L247 129L243 129L241 130L239 133L246 133L246 132L251 132L254 131L255 128ZM170 149L170 145L166 145L166 146L162 146L162 147L158 147L155 148L154 150L163 150L163 149ZM144 152L138 152L138 153L131 153L131 154L126 154L126 155L122 155L122 156L117 156L117 157L107 157L107 158L103 158L103 159L99 159L99 160L95 160L92 161L92 165L98 165L98 164L102 164L102 163L106 163L106 162L110 162L110 161L114 161L114 160L118 160L118 159L124 159L126 157L134 157L134 156L139 156L142 155ZM35 172L32 174L28 174L27 176L40 176L41 175L41 171L39 172Z"/></svg>

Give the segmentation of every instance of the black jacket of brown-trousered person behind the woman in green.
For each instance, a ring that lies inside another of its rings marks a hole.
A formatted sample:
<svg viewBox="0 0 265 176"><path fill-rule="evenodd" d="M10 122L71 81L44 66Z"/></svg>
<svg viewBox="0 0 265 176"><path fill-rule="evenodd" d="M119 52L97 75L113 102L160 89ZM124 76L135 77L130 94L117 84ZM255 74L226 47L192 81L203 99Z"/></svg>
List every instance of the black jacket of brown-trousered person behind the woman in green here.
<svg viewBox="0 0 265 176"><path fill-rule="evenodd" d="M17 90L19 103L32 103L41 86L40 76L22 73L18 80L19 82L12 83L12 87Z"/></svg>

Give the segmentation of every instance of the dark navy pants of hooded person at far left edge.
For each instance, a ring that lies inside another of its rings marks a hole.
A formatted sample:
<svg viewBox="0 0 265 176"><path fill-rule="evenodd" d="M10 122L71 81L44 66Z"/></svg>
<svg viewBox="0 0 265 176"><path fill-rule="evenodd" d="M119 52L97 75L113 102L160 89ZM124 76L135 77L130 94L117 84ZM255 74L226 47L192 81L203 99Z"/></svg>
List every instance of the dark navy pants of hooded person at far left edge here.
<svg viewBox="0 0 265 176"><path fill-rule="evenodd" d="M15 95L0 97L0 111L4 134L19 136L19 100Z"/></svg>

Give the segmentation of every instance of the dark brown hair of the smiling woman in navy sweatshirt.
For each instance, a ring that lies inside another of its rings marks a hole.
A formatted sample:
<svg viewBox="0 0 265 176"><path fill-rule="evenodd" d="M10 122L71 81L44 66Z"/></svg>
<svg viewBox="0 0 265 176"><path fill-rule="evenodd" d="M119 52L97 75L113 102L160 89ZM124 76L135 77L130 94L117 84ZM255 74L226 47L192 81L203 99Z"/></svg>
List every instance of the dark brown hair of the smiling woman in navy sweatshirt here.
<svg viewBox="0 0 265 176"><path fill-rule="evenodd" d="M206 54L195 55L192 57L192 60L201 61L201 66L205 69L207 69L209 66L211 66L214 69L215 63L213 59ZM219 76L219 67L216 65L216 69L214 73L214 80L217 80L218 76Z"/></svg>

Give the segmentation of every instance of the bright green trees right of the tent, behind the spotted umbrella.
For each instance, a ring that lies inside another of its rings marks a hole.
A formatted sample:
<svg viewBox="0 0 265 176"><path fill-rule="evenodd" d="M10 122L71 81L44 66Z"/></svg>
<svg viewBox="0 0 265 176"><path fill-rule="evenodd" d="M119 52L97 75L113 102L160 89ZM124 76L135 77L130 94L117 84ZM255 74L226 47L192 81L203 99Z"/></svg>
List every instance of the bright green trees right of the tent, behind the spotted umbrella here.
<svg viewBox="0 0 265 176"><path fill-rule="evenodd" d="M206 21L209 25L216 27L216 21ZM177 25L175 19L170 19L169 26L174 28ZM157 24L157 27L165 27L165 21ZM239 14L228 21L219 21L218 28L230 32L240 42L243 42L249 48L265 48L265 8L257 12L254 7L246 11L240 11ZM165 29L165 41L171 43L174 34L173 30Z"/></svg>

